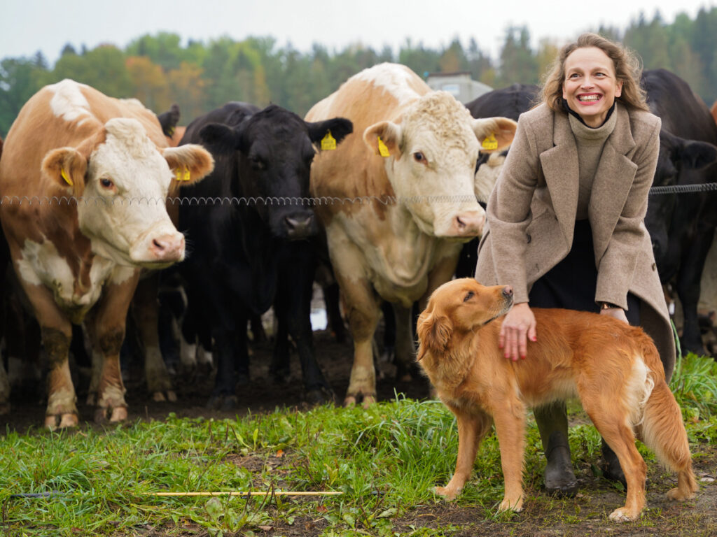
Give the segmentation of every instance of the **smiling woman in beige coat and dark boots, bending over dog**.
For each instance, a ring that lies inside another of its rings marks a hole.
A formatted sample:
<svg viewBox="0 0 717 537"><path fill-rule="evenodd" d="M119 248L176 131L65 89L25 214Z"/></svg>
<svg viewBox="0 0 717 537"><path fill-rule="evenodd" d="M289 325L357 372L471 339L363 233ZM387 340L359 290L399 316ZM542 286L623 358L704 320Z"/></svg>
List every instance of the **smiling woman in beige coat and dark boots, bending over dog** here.
<svg viewBox="0 0 717 537"><path fill-rule="evenodd" d="M645 104L635 58L596 34L566 45L524 113L488 200L476 279L511 284L500 330L506 359L530 359L533 307L596 311L640 324L668 381L675 342L643 218L657 165L660 119ZM539 332L539 330L538 330ZM535 410L546 488L574 494L564 403ZM603 442L605 475L625 480Z"/></svg>

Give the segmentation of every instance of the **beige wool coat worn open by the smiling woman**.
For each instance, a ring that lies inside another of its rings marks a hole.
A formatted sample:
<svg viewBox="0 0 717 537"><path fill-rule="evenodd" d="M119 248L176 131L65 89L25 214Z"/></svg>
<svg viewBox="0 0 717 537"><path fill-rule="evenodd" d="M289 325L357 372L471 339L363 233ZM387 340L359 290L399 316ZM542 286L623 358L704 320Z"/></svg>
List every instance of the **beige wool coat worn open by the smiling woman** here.
<svg viewBox="0 0 717 537"><path fill-rule="evenodd" d="M596 301L627 309L642 302L640 324L655 340L670 379L675 341L652 243L645 228L647 193L660 149L660 118L618 102L617 122L595 171L588 218L597 267ZM488 224L475 277L513 286L516 303L567 256L578 201L578 150L569 118L542 104L518 119L518 130L488 199Z"/></svg>

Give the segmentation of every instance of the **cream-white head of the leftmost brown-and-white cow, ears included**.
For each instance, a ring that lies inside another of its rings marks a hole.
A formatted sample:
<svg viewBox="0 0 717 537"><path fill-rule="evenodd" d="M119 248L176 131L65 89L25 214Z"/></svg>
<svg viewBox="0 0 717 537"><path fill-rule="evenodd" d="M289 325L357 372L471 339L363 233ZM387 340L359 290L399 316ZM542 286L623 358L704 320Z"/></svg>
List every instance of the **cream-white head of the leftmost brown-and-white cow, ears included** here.
<svg viewBox="0 0 717 537"><path fill-rule="evenodd" d="M189 175L189 180L199 180L213 165L211 155L199 146L169 148L164 153L159 153L138 121L115 118L105 125L105 140L95 146L88 161L74 148L63 147L46 156L43 170L81 196L77 218L92 251L125 266L162 268L184 259L184 236L165 206L174 178L171 166L183 179ZM203 161L203 168L197 159Z"/></svg>

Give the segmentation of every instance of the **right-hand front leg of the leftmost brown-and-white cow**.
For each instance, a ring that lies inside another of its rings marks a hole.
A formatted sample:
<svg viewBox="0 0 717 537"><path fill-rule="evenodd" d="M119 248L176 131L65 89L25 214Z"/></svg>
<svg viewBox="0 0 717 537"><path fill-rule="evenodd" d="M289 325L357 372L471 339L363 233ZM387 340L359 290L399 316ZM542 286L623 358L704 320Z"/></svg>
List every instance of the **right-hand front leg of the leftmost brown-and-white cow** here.
<svg viewBox="0 0 717 537"><path fill-rule="evenodd" d="M99 303L87 319L92 323L92 352L100 352L103 358L98 385L95 421L119 422L127 418L125 387L120 371L120 348L125 339L125 322L132 296L139 279L139 271L121 284L110 283Z"/></svg>

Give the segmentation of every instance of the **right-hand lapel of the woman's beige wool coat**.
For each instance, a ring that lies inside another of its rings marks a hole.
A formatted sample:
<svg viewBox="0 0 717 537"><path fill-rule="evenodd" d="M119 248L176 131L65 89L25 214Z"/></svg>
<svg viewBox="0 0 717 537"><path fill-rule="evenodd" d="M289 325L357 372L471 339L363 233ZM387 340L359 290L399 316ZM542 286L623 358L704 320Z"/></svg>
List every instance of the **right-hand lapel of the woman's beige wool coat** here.
<svg viewBox="0 0 717 537"><path fill-rule="evenodd" d="M602 150L602 157L595 171L588 218L592 227L595 259L602 258L617 219L625 206L637 165L625 156L635 147L630 131L630 116L625 107L618 105L615 129Z"/></svg>

